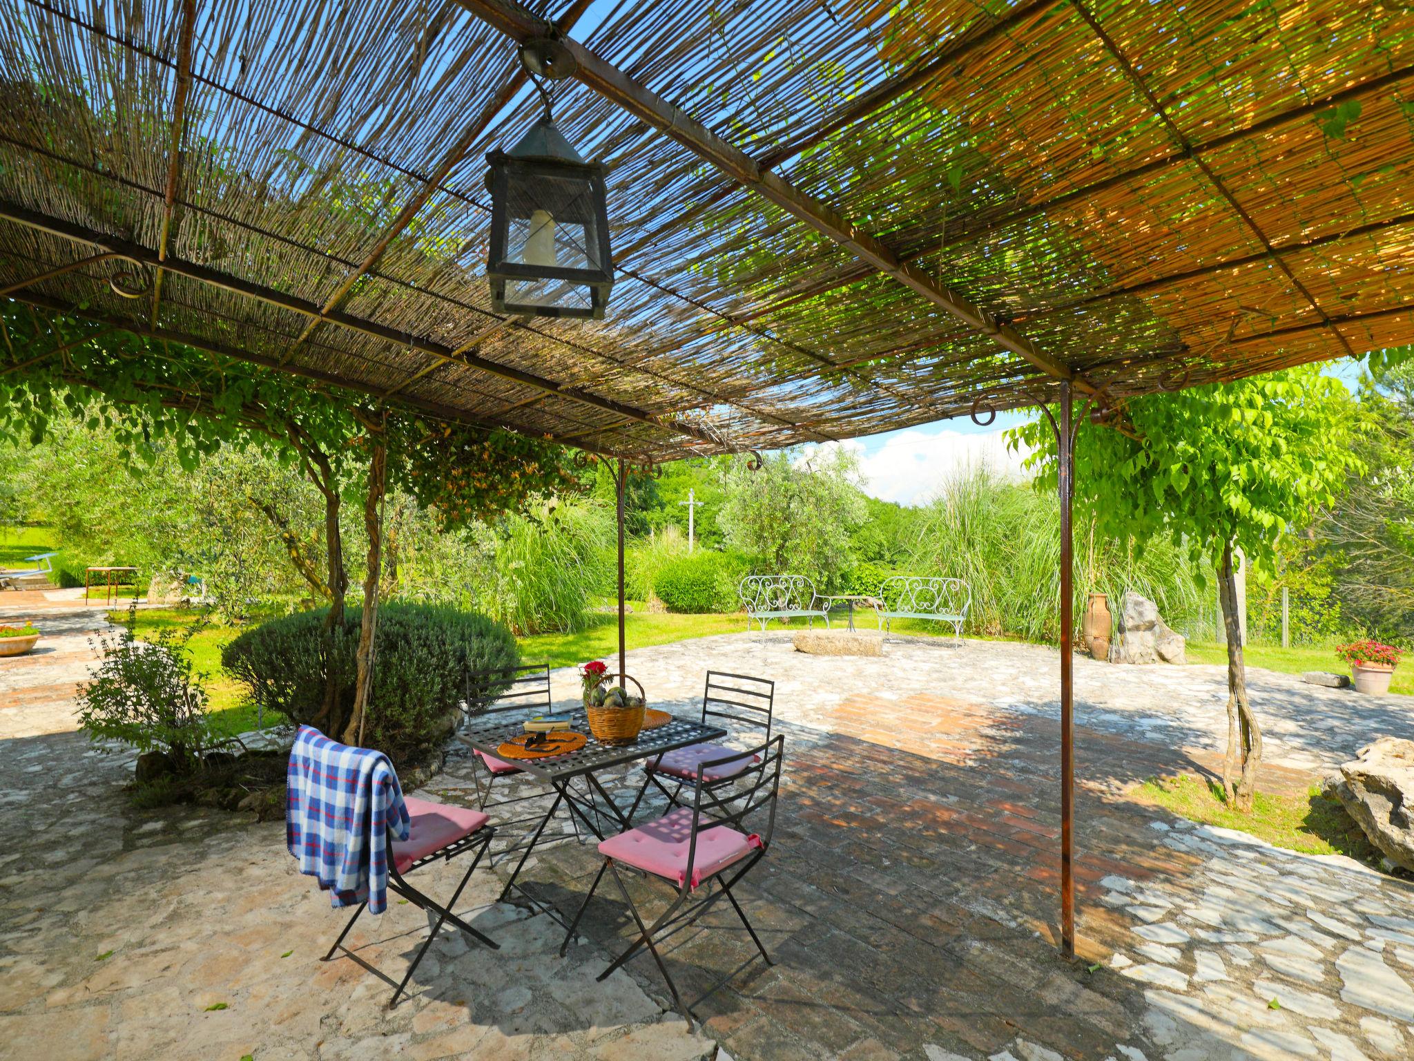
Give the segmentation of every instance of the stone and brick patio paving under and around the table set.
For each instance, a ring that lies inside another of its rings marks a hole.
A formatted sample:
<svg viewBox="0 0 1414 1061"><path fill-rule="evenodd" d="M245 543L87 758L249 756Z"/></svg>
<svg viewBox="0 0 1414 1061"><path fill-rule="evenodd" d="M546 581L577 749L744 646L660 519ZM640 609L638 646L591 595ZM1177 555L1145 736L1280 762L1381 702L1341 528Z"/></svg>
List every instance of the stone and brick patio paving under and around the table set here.
<svg viewBox="0 0 1414 1061"><path fill-rule="evenodd" d="M382 980L346 958L315 961L342 918L293 871L279 823L136 811L120 791L130 757L99 755L72 731L92 614L55 607L42 617L59 631L52 652L23 671L0 662L0 811L14 837L0 853L0 1057L1414 1053L1408 883L1126 798L1145 777L1210 765L1225 734L1219 668L1077 661L1085 959L1072 963L1052 942L1053 651L891 639L882 659L816 658L779 635L742 634L632 652L628 669L667 709L693 709L707 666L775 678L786 734L782 816L744 891L776 965L747 968L701 1004L703 1026L690 1031L665 1011L649 958L594 983L626 934L617 895L600 893L585 938L561 961L554 921L492 901L505 863L478 871L458 905L502 951L444 935L414 997L389 1013ZM1312 767L1376 733L1414 729L1406 697L1250 678L1278 761L1264 775L1273 779L1305 784ZM573 672L554 680L570 699ZM472 802L471 768L454 751L423 794ZM636 771L609 781L626 801ZM539 853L526 881L573 910L597 866L592 847L567 843ZM455 863L421 873L436 894L450 890ZM420 915L393 905L354 938L396 973L420 932ZM727 908L674 939L667 961L691 997L751 953Z"/></svg>

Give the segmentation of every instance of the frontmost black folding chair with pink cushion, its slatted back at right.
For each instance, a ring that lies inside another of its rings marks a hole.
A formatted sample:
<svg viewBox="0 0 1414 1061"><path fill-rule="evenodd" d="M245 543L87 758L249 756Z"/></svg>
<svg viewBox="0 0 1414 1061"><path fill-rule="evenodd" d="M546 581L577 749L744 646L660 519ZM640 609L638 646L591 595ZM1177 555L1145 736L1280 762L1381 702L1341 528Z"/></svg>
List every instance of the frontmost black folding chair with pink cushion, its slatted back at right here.
<svg viewBox="0 0 1414 1061"><path fill-rule="evenodd" d="M690 806L677 806L656 821L604 840L600 845L604 864L600 866L590 894L584 897L564 942L560 944L560 956L564 956L570 939L574 937L574 929L578 927L580 918L584 917L584 911L590 905L590 900L594 898L607 870L612 874L619 894L628 904L633 924L638 927L638 938L600 973L600 980L604 980L641 949L648 948L658 963L658 970L667 982L667 990L673 995L677 1011L691 1026L693 1007L715 993L755 958L728 972L691 1006L687 1006L667 972L659 946L682 929L696 924L723 895L737 911L737 917L741 918L741 924L751 935L751 942L756 945L761 958L766 965L771 965L771 955L766 953L756 929L751 927L747 912L731 890L755 869L771 849L771 835L776 823L776 801L781 795L783 753L785 737L778 736L745 753L732 751L727 758L703 763L700 778L693 782ZM751 763L744 774L732 774L715 781L708 779L715 770L734 763L742 754L748 755ZM748 821L759 821L762 813L765 813L765 828L759 833L747 832ZM633 897L625 887L624 879L619 876L619 864L677 886L677 895L652 925L645 924ZM711 887L713 884L717 887ZM700 893L699 888L703 886L707 887Z"/></svg>

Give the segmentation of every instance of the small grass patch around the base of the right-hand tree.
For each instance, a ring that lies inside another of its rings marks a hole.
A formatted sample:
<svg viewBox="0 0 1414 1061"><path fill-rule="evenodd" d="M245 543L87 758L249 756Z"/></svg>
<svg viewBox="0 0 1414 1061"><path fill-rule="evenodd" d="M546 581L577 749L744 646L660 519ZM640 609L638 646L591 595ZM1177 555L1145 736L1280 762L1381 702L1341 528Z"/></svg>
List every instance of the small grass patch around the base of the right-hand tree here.
<svg viewBox="0 0 1414 1061"><path fill-rule="evenodd" d="M1258 791L1250 815L1227 806L1219 785L1192 774L1150 778L1134 789L1134 795L1141 802L1157 804L1191 822L1244 832L1291 852L1349 854L1370 864L1380 862L1380 853L1345 808L1335 799L1326 799L1316 787L1304 795Z"/></svg>

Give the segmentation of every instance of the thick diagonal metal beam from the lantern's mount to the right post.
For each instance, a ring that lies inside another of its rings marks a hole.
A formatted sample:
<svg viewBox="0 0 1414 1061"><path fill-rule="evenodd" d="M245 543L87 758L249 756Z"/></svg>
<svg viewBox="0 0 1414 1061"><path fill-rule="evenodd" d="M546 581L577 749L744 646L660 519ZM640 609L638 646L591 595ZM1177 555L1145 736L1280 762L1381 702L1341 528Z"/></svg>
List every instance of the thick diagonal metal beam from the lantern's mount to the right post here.
<svg viewBox="0 0 1414 1061"><path fill-rule="evenodd" d="M551 33L551 27L544 20L516 0L458 0L458 3L516 42ZM1075 372L1069 366L1039 349L1010 324L950 291L916 266L904 262L892 248L853 225L820 199L802 192L775 173L764 170L755 158L723 140L680 108L633 81L578 41L563 38L560 42L577 64L574 76L587 88L676 140L732 180L771 199L878 272L888 274L933 306L946 310L969 327L987 335L1003 349L1028 361L1049 376L1075 379ZM1077 389L1087 393L1093 392L1093 388L1083 381L1076 381L1076 385Z"/></svg>

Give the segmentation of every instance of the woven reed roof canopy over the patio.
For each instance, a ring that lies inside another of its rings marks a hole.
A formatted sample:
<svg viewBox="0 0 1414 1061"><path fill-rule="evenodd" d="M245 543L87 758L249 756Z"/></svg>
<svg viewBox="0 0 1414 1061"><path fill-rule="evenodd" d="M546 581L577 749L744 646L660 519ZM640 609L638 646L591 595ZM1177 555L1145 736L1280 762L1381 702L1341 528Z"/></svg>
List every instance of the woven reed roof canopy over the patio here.
<svg viewBox="0 0 1414 1061"><path fill-rule="evenodd" d="M1410 3L0 4L8 297L434 417L656 461L1414 342ZM602 320L486 280L544 38Z"/></svg>

